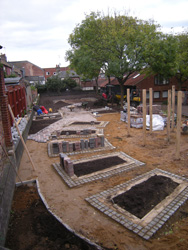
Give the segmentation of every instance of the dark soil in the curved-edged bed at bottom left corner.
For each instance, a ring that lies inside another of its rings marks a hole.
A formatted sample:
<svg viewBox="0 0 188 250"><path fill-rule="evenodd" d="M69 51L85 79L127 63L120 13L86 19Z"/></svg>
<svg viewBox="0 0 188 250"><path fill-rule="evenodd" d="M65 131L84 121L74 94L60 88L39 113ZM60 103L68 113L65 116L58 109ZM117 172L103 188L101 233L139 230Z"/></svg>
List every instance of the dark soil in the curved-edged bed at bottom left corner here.
<svg viewBox="0 0 188 250"><path fill-rule="evenodd" d="M6 247L12 250L94 250L52 216L36 187L20 186L12 204Z"/></svg>

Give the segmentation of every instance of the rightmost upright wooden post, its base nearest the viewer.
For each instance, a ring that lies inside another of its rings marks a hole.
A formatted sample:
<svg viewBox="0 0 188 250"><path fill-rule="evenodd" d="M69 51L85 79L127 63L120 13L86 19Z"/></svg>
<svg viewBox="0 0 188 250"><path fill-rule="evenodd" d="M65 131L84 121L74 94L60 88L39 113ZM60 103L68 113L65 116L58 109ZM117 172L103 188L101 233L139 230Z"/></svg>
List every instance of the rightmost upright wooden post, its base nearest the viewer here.
<svg viewBox="0 0 188 250"><path fill-rule="evenodd" d="M180 159L181 115L182 115L182 91L178 91L177 131L176 131L176 159L177 160Z"/></svg>

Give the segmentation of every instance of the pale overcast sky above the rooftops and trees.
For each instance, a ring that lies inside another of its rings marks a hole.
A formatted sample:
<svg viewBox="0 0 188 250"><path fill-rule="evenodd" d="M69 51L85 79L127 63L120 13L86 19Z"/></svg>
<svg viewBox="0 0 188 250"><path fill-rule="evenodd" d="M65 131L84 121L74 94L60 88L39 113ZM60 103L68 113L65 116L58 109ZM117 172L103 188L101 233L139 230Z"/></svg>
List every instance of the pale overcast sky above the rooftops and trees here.
<svg viewBox="0 0 188 250"><path fill-rule="evenodd" d="M92 11L152 19L164 33L188 29L187 0L0 0L0 9L0 53L41 68L69 65L69 35Z"/></svg>

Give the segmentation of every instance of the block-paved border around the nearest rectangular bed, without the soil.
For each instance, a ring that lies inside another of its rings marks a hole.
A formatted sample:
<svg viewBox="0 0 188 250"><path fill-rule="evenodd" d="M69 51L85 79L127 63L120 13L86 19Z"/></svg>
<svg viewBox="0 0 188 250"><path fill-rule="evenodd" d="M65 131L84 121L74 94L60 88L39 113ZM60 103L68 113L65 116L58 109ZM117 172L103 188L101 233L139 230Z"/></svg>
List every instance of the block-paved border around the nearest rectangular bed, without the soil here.
<svg viewBox="0 0 188 250"><path fill-rule="evenodd" d="M153 175L164 175L175 182L179 186L166 199L155 206L142 219L130 214L128 211L120 208L117 204L113 204L111 199L120 193L125 192L132 186L145 181ZM111 199L109 199L109 197ZM173 173L154 169L148 173L140 175L130 181L114 186L101 193L86 198L91 206L97 208L103 214L120 223L125 228L133 231L140 237L149 240L159 230L165 222L178 210L178 208L188 199L188 179L175 175ZM110 201L109 201L110 200Z"/></svg>

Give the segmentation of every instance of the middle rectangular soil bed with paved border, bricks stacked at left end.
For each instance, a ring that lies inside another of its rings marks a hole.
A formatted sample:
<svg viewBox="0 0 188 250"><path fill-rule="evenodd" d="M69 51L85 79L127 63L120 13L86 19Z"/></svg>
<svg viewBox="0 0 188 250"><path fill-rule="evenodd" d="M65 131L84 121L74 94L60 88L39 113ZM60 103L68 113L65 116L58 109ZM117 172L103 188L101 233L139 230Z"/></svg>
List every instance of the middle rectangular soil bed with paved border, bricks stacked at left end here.
<svg viewBox="0 0 188 250"><path fill-rule="evenodd" d="M114 152L73 161L73 176L69 176L59 163L54 163L52 166L65 183L72 188L91 181L109 178L143 165L144 163L123 152Z"/></svg>

